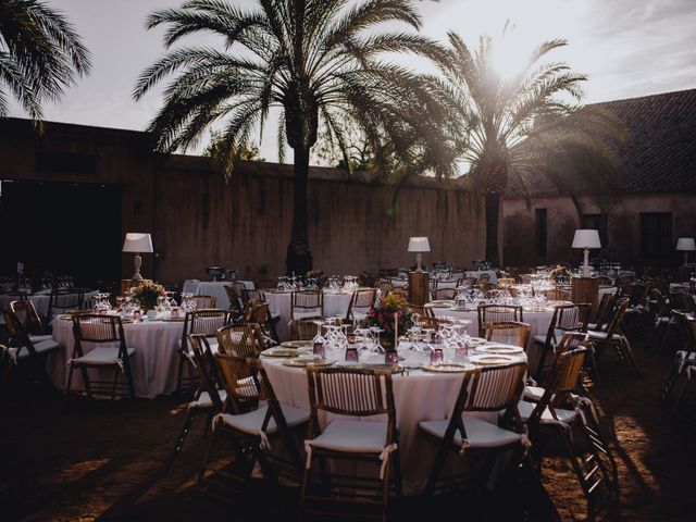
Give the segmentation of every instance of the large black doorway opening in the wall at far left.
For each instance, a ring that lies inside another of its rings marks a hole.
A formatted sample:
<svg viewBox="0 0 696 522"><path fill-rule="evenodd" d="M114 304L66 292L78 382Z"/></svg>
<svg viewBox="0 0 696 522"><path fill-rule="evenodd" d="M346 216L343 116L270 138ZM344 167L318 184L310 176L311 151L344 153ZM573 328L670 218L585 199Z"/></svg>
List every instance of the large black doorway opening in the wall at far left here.
<svg viewBox="0 0 696 522"><path fill-rule="evenodd" d="M0 274L70 275L79 286L121 278L121 187L0 182Z"/></svg>

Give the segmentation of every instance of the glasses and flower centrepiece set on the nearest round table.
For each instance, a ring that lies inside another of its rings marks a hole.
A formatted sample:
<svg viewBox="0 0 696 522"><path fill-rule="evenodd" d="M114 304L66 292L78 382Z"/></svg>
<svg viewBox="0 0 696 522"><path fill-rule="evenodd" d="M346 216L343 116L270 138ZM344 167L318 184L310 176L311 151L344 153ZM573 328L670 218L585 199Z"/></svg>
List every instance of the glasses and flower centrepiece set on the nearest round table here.
<svg viewBox="0 0 696 522"><path fill-rule="evenodd" d="M314 324L316 335L311 341L312 355L346 363L400 364L407 369L462 363L468 362L471 346L467 331L471 321L457 318L445 318L438 330L413 326L391 350L384 348L384 330L377 326L341 324L338 318L318 319Z"/></svg>

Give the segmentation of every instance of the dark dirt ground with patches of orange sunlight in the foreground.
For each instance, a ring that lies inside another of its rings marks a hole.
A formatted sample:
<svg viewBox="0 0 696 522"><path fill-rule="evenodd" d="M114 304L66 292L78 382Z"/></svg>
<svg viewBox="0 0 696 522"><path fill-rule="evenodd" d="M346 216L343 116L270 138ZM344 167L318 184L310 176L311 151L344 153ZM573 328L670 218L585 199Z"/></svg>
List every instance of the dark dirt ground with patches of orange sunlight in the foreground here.
<svg viewBox="0 0 696 522"><path fill-rule="evenodd" d="M601 386L593 390L604 422L616 434L621 506L619 515L611 518L694 520L695 430L684 419L671 419L659 401L671 356L643 347L639 338L633 344L642 375L606 353L599 363ZM202 422L195 424L172 471L162 476L183 422L178 406L173 397L115 402L77 398L66 411L58 394L16 385L3 388L0 520L296 518L294 488L273 493L259 481L244 499L251 508L229 506L198 490L196 476L207 447ZM545 460L544 487L562 520L586 520L584 497L563 459ZM453 498L449 507L468 511L470 500ZM446 502L425 497L395 501L390 519L444 519ZM548 512L522 511L509 509L501 518L549 519Z"/></svg>

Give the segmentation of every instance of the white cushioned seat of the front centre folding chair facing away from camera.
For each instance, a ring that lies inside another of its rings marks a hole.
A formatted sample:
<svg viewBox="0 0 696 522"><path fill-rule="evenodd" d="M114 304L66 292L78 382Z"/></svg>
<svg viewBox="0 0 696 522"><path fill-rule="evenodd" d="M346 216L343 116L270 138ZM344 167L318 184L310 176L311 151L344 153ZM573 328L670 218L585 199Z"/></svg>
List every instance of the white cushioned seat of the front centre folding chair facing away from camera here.
<svg viewBox="0 0 696 522"><path fill-rule="evenodd" d="M313 448L347 453L382 453L387 446L387 423L336 419L316 438Z"/></svg>

